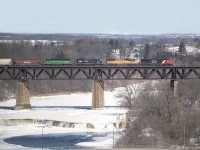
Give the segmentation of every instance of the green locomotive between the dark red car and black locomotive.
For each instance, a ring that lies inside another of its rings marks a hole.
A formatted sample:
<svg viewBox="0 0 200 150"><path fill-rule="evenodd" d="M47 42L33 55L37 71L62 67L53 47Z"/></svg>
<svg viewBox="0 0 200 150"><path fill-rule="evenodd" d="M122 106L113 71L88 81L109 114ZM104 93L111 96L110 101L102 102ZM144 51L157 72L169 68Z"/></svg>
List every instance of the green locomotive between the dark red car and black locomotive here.
<svg viewBox="0 0 200 150"><path fill-rule="evenodd" d="M70 59L45 59L43 65L71 65Z"/></svg>

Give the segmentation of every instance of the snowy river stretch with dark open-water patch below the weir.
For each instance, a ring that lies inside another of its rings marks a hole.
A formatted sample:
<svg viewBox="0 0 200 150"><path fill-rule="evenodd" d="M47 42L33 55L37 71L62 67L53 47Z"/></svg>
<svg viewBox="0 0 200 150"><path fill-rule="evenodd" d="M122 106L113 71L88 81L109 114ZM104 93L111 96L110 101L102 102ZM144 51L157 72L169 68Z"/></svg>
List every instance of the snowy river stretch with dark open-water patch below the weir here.
<svg viewBox="0 0 200 150"><path fill-rule="evenodd" d="M0 126L0 149L103 146L112 144L112 132L63 129L38 125ZM93 144L94 145L93 145Z"/></svg>

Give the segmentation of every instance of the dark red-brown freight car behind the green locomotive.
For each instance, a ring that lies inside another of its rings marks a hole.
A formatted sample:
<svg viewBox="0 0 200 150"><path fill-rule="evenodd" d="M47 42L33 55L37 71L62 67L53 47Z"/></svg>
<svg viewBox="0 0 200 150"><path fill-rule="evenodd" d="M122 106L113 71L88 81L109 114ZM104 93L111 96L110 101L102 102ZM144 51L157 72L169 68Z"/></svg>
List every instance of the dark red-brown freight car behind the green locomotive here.
<svg viewBox="0 0 200 150"><path fill-rule="evenodd" d="M13 59L13 65L40 65L40 59Z"/></svg>

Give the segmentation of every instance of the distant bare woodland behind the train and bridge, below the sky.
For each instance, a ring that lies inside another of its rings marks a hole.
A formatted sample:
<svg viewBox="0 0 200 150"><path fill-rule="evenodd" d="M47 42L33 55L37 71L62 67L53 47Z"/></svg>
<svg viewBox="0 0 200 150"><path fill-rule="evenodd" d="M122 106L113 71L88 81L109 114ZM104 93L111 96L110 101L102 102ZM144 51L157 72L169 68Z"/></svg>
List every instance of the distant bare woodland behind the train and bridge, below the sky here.
<svg viewBox="0 0 200 150"><path fill-rule="evenodd" d="M28 35L23 35L28 38ZM185 43L189 41L183 41L180 39L159 39L159 38L143 38L143 39L123 39L123 38L94 38L94 37L79 37L70 38L67 40L54 41L52 35L47 35L47 39L51 39L51 42L43 42L41 40L17 40L20 36L10 39L2 39L0 41L0 58L69 58L72 62L75 62L77 58L96 58L105 59L119 58L127 59L131 58L134 54L134 58L172 58L175 64L199 64L200 55L189 56L185 55ZM24 38L23 37L23 38ZM45 37L44 35L42 36ZM59 35L59 38L64 39ZM36 37L34 37L36 38ZM38 38L36 38L38 39ZM10 41L9 41L10 40ZM43 39L44 40L44 39ZM179 43L180 52L184 55L173 54L165 51L166 43ZM181 43L182 42L182 43ZM194 39L193 45L198 47L199 40ZM182 45L182 46L181 46ZM116 55L116 51L119 52ZM15 81L1 81L2 85L1 98L5 99L7 93L16 93ZM124 84L121 81L107 81L105 82L106 89L112 89ZM14 85L14 86L13 86ZM91 91L91 81L30 81L30 91L32 95L38 94L57 94L68 92L88 92ZM13 94L11 94L13 95ZM15 95L15 94L14 94Z"/></svg>

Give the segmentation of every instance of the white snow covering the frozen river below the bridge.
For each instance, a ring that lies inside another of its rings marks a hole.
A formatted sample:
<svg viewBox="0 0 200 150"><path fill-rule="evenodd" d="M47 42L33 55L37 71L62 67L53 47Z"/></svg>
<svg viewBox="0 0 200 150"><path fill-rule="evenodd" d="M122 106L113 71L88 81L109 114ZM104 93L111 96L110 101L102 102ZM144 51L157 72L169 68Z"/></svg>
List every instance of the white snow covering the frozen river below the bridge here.
<svg viewBox="0 0 200 150"><path fill-rule="evenodd" d="M16 136L36 136L41 141L43 132L45 136L66 134L73 138L82 137L63 146L112 146L113 144L113 123L116 122L117 114L125 114L126 109L117 106L117 99L114 92L105 92L105 108L103 110L92 110L92 94L77 93L71 95L31 97L31 110L12 110L15 106L15 99L0 103L0 120L9 119L38 119L53 120L75 123L74 128L63 128L47 126L42 124L17 124L0 125L0 149L17 149L29 147L25 145L15 145L6 142L6 138ZM86 123L94 126L94 129L87 128ZM117 133L118 131L114 129ZM96 136L96 135L101 136ZM95 135L95 136L94 136ZM33 138L33 137L32 137ZM115 137L117 138L117 136ZM42 139L43 140L43 139ZM9 141L9 140L7 140ZM84 141L84 142L83 142ZM46 146L45 143L44 147ZM49 145L48 145L49 146ZM48 147L46 146L46 147ZM50 145L53 146L53 145ZM31 146L30 146L31 147ZM34 147L34 146L32 146ZM35 146L37 147L37 146Z"/></svg>

